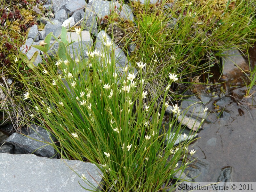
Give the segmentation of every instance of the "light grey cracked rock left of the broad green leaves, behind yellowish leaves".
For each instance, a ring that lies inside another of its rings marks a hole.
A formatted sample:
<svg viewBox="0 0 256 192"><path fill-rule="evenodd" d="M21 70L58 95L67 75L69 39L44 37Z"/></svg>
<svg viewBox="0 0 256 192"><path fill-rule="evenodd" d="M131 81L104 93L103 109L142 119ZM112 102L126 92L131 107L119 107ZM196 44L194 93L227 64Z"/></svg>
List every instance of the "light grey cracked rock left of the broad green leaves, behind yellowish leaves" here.
<svg viewBox="0 0 256 192"><path fill-rule="evenodd" d="M22 47L20 47L20 51L24 54L26 54L26 56L28 57L28 59L31 59L31 57L33 56L33 54L35 52L38 52L38 55L36 57L35 62L33 62L33 64L35 66L38 66L38 63L42 63L42 58L40 57L40 50L36 49L35 47L32 47L31 45L35 45L36 43L33 41L33 39L29 38L26 40L25 45L23 45ZM28 49L27 49L27 47Z"/></svg>

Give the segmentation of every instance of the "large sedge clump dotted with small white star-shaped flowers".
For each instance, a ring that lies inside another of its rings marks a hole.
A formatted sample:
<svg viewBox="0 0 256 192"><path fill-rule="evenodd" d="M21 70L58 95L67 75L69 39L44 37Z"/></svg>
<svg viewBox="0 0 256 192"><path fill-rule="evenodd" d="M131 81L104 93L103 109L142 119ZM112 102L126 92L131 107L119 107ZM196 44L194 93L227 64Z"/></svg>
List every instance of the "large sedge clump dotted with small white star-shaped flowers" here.
<svg viewBox="0 0 256 192"><path fill-rule="evenodd" d="M80 65L83 60L72 60L67 54L66 60L49 62L48 68L32 68L33 81L21 79L27 85L24 99L34 108L31 116L59 141L53 147L62 158L92 162L100 168L104 191L173 189L170 182L179 178L195 152L188 151L187 135L183 143L174 145L183 128L177 122L177 105L169 129L162 122L167 90L179 75L169 74L167 88L156 90L156 97L148 100L148 80L142 70L152 64L138 62L136 74L131 66L116 67L113 42L101 33L104 46L88 48L89 58L83 59L86 68ZM162 107L156 105L160 95L164 95Z"/></svg>

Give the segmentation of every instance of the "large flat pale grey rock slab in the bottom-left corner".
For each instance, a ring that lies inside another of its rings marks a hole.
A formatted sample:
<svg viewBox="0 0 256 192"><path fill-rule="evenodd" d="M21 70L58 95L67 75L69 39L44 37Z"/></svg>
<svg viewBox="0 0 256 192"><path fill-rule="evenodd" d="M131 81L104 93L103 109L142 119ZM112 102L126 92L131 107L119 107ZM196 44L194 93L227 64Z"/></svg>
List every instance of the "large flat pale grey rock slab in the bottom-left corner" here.
<svg viewBox="0 0 256 192"><path fill-rule="evenodd" d="M102 172L95 164L78 160L49 159L32 154L0 154L0 186L2 192L49 191L85 192L100 189ZM70 167L70 168L69 168ZM73 169L74 171L72 171ZM78 175L77 175L77 174ZM82 179L84 174L94 188Z"/></svg>

